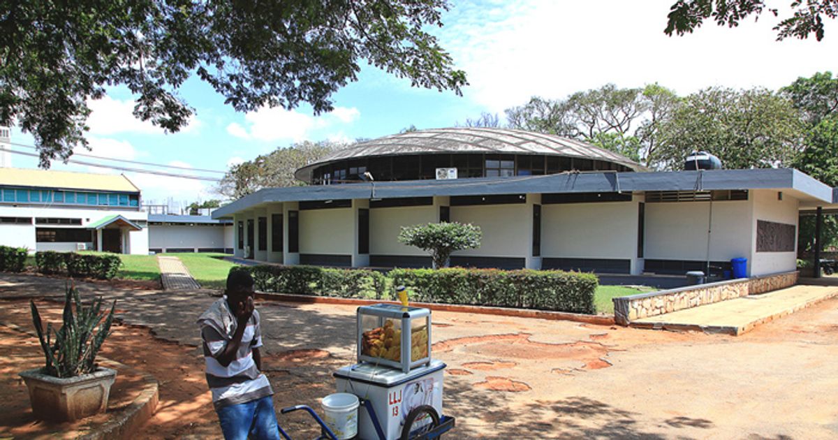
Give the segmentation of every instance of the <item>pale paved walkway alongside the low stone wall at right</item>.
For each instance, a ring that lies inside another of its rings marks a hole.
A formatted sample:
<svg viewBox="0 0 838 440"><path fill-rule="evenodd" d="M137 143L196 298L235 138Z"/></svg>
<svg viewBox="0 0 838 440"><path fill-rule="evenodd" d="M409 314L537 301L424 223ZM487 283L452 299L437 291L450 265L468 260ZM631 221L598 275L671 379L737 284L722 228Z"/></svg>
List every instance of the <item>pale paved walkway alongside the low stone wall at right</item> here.
<svg viewBox="0 0 838 440"><path fill-rule="evenodd" d="M708 333L739 335L759 324L794 313L838 296L838 286L798 284L763 295L688 308L632 322L632 327L652 329L701 329Z"/></svg>

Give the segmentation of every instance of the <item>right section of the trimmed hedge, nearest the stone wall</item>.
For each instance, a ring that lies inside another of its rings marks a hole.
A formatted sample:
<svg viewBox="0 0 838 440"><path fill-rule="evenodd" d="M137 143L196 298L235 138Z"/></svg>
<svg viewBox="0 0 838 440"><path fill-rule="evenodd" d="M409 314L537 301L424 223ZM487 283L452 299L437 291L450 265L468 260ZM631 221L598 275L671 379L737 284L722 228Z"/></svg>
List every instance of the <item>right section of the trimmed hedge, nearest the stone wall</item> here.
<svg viewBox="0 0 838 440"><path fill-rule="evenodd" d="M414 301L596 313L598 281L590 273L456 267L394 269L388 276L411 289Z"/></svg>

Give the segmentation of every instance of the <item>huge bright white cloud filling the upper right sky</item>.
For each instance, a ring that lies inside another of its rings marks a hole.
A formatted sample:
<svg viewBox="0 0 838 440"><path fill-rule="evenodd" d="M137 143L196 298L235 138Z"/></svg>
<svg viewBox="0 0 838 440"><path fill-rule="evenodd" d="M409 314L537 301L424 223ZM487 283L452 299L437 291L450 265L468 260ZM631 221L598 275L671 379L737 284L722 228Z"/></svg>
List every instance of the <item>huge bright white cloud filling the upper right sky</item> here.
<svg viewBox="0 0 838 440"><path fill-rule="evenodd" d="M776 42L763 13L738 28L708 21L695 34L663 33L673 0L556 2L463 0L443 17L443 47L471 85L465 96L489 111L530 96L558 98L609 82L655 81L681 94L711 85L776 89L798 76L835 70L838 27L827 36ZM782 15L781 15L782 16Z"/></svg>

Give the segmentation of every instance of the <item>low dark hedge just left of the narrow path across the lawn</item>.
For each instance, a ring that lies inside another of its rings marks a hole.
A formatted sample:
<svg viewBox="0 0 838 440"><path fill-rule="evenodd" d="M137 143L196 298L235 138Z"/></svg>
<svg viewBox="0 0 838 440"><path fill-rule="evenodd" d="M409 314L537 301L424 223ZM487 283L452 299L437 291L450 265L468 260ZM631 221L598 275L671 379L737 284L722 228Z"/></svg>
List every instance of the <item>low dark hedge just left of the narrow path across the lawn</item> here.
<svg viewBox="0 0 838 440"><path fill-rule="evenodd" d="M35 252L35 264L41 273L64 273L70 277L110 280L122 267L116 255L78 254L75 252Z"/></svg>

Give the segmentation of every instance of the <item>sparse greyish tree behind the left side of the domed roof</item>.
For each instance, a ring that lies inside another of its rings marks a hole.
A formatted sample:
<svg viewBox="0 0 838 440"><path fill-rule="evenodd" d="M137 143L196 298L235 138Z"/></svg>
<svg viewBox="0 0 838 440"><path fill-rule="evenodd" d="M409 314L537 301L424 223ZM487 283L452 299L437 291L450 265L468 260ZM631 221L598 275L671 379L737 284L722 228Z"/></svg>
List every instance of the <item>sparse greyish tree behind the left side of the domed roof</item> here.
<svg viewBox="0 0 838 440"><path fill-rule="evenodd" d="M338 142L305 141L287 148L277 148L272 153L231 166L218 184L216 192L230 199L241 199L262 188L304 185L304 182L294 178L297 168L345 146Z"/></svg>

